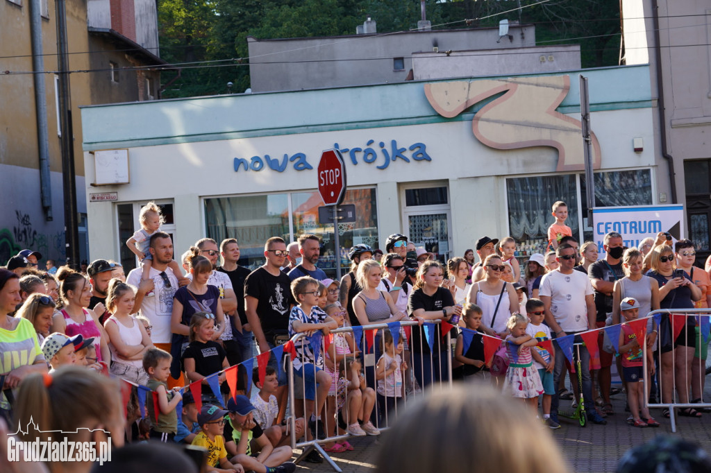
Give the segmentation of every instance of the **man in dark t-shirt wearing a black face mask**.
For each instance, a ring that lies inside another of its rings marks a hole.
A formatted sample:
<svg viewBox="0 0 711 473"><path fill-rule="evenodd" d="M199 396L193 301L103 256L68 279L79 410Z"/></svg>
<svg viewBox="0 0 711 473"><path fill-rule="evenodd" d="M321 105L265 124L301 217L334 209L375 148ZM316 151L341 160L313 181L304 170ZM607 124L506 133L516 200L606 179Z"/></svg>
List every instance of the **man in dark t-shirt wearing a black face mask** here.
<svg viewBox="0 0 711 473"><path fill-rule="evenodd" d="M594 289L595 309L597 311L597 327L605 326L607 315L612 312L612 290L615 281L624 278L622 269L622 254L624 254L624 243L622 235L617 232L610 232L603 239L603 249L605 258L595 261L590 265L587 271L587 276L590 278L592 288ZM602 349L602 330L598 339L600 362L599 370L592 370L592 379L597 378L600 386L600 396L602 397L603 406L602 412L605 414L614 413L610 403L610 386L611 374L610 366L612 365L612 354L605 352ZM590 363L591 368L594 367L594 362ZM597 373L595 372L597 371ZM594 386L594 384L593 384ZM596 397L597 399L597 397Z"/></svg>

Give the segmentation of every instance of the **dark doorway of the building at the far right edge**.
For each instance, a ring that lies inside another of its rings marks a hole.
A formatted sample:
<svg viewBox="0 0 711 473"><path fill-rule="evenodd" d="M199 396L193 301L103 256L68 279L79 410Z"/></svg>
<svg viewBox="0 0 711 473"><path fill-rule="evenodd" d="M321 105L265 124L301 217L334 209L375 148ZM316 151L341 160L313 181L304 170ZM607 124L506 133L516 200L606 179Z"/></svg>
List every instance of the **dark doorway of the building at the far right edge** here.
<svg viewBox="0 0 711 473"><path fill-rule="evenodd" d="M696 264L703 268L711 254L711 160L684 161L684 180L689 239L696 247Z"/></svg>

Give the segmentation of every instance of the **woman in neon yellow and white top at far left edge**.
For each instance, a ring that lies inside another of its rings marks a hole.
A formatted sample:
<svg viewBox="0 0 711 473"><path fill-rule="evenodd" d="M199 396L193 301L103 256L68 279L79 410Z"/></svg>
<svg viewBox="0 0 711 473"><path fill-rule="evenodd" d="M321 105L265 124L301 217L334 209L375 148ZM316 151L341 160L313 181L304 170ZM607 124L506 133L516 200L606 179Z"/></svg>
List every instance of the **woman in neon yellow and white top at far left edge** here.
<svg viewBox="0 0 711 473"><path fill-rule="evenodd" d="M20 278L0 268L0 344L3 359L0 364L0 417L12 425L11 403L14 389L32 373L46 373L47 364L32 323L22 317L10 317L20 303Z"/></svg>

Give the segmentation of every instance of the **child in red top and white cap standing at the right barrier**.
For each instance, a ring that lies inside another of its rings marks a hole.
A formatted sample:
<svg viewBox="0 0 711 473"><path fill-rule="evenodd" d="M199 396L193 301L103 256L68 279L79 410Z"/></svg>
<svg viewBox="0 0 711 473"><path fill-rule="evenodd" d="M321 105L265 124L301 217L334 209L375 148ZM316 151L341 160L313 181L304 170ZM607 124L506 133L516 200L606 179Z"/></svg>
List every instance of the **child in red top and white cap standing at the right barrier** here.
<svg viewBox="0 0 711 473"><path fill-rule="evenodd" d="M620 314L626 322L636 320L639 315L639 302L634 298L624 298L620 303ZM644 325L646 331L646 325ZM634 427L659 427L659 423L649 414L644 403L643 351L637 336L629 324L623 323L620 330L619 354L622 357L622 376L627 386L627 403L630 418L627 423ZM647 350L647 363L654 366L651 350Z"/></svg>

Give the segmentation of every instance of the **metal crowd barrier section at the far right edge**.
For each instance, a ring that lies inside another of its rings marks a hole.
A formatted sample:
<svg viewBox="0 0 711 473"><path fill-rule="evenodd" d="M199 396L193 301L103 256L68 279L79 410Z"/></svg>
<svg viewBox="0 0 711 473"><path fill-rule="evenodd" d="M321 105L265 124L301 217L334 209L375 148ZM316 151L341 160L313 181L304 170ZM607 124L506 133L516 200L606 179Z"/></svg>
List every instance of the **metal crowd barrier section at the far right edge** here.
<svg viewBox="0 0 711 473"><path fill-rule="evenodd" d="M649 312L647 318L654 321L658 335L653 350L654 376L650 376L648 351L643 344L643 401L647 408L668 410L672 432L676 432L675 408L690 415L691 409L711 408L704 402L705 358L709 342L711 309L663 309ZM693 317L693 318L692 318ZM695 356L695 355L699 356ZM656 380L656 400L649 402L652 381ZM698 396L692 403L690 396ZM711 401L711 399L709 399ZM666 412L666 411L664 411Z"/></svg>

